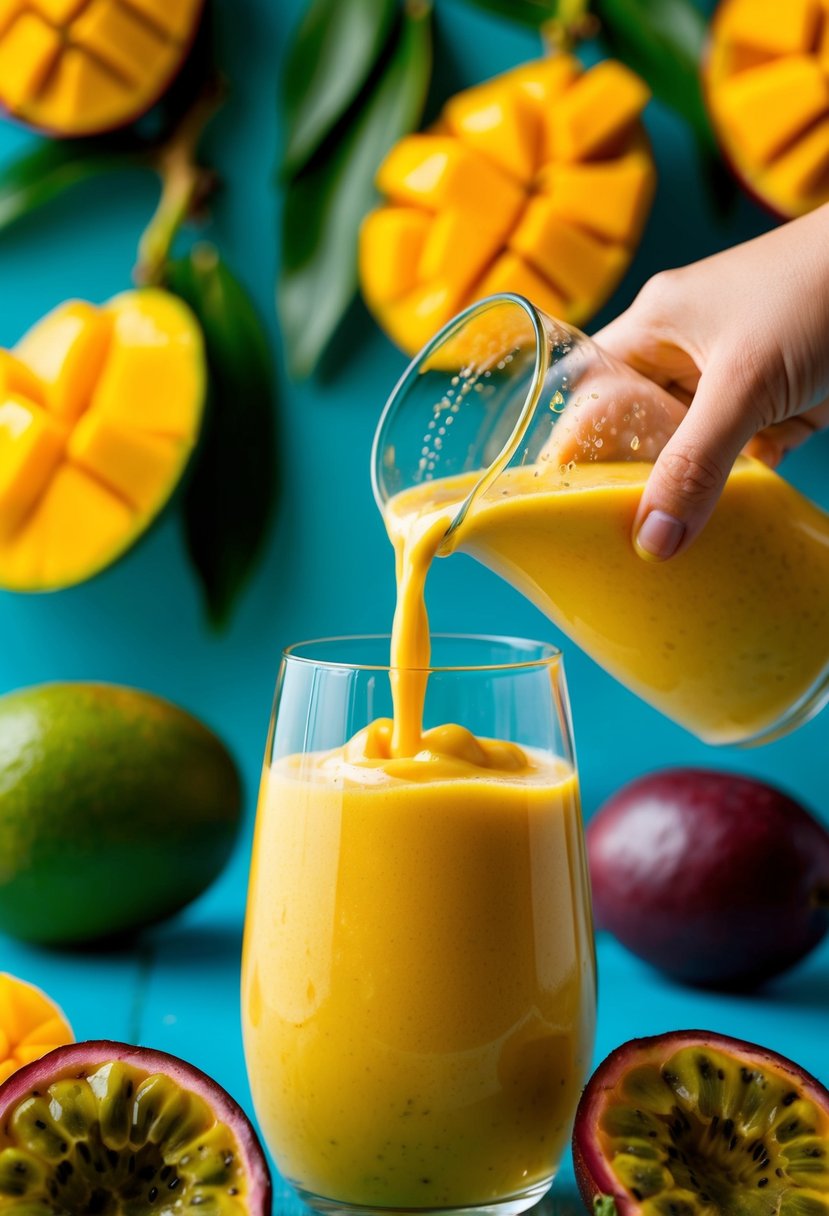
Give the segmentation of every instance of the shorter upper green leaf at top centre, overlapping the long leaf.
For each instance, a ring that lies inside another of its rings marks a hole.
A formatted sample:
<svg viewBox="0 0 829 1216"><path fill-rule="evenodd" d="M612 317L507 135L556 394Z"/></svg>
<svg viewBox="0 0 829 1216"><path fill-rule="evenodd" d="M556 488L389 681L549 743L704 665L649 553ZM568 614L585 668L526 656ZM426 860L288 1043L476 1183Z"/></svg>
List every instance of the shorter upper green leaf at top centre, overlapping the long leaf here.
<svg viewBox="0 0 829 1216"><path fill-rule="evenodd" d="M308 164L360 95L396 13L397 0L311 0L282 74L286 178Z"/></svg>

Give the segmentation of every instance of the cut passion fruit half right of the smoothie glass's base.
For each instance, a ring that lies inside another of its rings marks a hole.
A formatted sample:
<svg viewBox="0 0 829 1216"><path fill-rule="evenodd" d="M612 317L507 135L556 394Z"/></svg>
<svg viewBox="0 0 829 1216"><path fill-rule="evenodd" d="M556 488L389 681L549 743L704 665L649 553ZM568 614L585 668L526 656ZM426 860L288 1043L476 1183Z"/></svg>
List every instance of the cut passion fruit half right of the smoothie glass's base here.
<svg viewBox="0 0 829 1216"><path fill-rule="evenodd" d="M598 1066L573 1150L619 1216L829 1216L829 1091L739 1038L633 1038ZM597 1210L600 1205L597 1205Z"/></svg>

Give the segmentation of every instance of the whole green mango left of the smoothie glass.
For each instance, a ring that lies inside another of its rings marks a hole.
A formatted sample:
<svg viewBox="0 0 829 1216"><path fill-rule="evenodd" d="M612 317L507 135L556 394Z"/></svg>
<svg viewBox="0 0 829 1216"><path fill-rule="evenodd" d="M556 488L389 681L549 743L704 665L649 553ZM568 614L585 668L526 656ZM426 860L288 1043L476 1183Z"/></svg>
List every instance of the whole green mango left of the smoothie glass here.
<svg viewBox="0 0 829 1216"><path fill-rule="evenodd" d="M52 683L0 697L0 931L129 934L218 877L242 812L221 741L150 693Z"/></svg>

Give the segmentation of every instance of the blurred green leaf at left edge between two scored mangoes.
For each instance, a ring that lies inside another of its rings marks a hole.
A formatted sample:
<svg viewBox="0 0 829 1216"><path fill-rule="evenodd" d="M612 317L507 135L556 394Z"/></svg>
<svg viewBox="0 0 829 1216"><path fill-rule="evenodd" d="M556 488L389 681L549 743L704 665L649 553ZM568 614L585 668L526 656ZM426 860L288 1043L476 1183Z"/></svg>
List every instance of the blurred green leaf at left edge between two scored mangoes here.
<svg viewBox="0 0 829 1216"><path fill-rule="evenodd" d="M139 159L126 146L103 140L44 140L0 167L0 232L71 186Z"/></svg>

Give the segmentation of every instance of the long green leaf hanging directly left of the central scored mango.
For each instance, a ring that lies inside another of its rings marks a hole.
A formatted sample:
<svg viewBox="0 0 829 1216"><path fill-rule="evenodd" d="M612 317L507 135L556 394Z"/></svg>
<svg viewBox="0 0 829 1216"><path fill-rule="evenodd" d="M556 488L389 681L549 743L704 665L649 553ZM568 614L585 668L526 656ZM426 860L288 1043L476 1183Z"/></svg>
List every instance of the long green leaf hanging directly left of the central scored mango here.
<svg viewBox="0 0 829 1216"><path fill-rule="evenodd" d="M286 192L277 308L288 367L309 376L357 286L360 223L374 174L393 143L418 123L432 71L429 13L406 13L384 71L328 153Z"/></svg>

